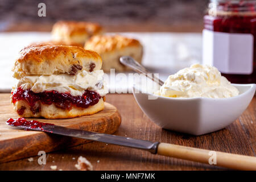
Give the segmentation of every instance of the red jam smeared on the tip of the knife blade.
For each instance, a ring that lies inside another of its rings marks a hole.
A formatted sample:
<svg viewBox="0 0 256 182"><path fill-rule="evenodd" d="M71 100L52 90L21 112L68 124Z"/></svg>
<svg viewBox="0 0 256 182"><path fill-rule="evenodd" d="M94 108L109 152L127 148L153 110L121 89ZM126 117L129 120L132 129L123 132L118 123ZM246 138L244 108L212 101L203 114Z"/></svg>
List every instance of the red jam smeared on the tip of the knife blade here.
<svg viewBox="0 0 256 182"><path fill-rule="evenodd" d="M34 130L40 130L40 131L44 131L44 126L54 126L51 123L43 123L35 120L28 121L25 118L18 118L18 119L10 118L6 121L6 124L10 126L24 126L28 130L34 129Z"/></svg>

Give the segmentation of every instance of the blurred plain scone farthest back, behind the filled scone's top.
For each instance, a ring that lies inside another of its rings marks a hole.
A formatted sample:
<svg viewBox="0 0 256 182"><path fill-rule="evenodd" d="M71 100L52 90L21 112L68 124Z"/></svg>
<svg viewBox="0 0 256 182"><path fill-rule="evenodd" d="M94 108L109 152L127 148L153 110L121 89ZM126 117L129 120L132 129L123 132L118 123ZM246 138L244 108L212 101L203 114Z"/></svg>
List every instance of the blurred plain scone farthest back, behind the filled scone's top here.
<svg viewBox="0 0 256 182"><path fill-rule="evenodd" d="M84 46L86 40L102 33L102 27L91 22L59 21L52 27L52 39L66 44L73 43Z"/></svg>

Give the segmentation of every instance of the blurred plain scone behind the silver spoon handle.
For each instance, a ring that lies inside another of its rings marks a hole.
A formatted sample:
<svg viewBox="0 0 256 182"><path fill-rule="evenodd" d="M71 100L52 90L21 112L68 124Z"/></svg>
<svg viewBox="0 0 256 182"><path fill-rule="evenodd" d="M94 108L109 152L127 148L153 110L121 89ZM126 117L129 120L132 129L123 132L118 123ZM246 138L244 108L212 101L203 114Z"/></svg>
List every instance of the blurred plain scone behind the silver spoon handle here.
<svg viewBox="0 0 256 182"><path fill-rule="evenodd" d="M102 58L102 69L109 72L110 68L115 71L128 71L119 62L121 56L131 56L139 63L142 60L143 48L138 40L126 38L121 35L96 35L92 36L86 43L85 49L96 51Z"/></svg>

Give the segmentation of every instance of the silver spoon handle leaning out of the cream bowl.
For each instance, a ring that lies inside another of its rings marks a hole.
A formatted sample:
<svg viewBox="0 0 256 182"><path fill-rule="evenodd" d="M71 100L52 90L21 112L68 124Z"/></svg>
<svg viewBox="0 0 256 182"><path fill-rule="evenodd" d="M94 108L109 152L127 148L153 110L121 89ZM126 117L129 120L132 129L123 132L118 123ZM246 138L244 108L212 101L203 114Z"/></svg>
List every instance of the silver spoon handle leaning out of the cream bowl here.
<svg viewBox="0 0 256 182"><path fill-rule="evenodd" d="M139 64L137 61L135 61L133 59L133 57L130 56L122 56L120 57L120 62L123 65L126 65L127 67L133 69L133 71L137 72L137 73L142 73L144 76L150 78L151 80L157 82L160 86L162 86L164 84L164 82L162 80L160 80L158 77L156 76L152 76L152 74L143 67L143 65ZM148 74L150 73L150 74Z"/></svg>

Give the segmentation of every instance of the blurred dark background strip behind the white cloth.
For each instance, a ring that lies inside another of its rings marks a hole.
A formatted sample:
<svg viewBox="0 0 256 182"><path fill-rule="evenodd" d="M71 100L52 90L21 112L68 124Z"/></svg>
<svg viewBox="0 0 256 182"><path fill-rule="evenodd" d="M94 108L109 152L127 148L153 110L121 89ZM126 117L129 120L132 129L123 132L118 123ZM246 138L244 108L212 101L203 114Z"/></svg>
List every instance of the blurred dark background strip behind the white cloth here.
<svg viewBox="0 0 256 182"><path fill-rule="evenodd" d="M46 3L46 17L38 3ZM98 22L106 31L200 32L206 0L1 0L0 31L50 31L57 20Z"/></svg>

